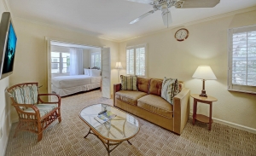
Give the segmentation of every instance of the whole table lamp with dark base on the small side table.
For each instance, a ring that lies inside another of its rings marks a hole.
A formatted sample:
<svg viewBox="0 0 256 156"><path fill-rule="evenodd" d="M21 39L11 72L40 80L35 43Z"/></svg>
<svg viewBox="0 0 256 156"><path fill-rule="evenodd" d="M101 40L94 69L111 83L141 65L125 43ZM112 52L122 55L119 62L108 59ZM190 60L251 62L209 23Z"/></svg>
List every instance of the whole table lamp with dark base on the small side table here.
<svg viewBox="0 0 256 156"><path fill-rule="evenodd" d="M214 73L212 72L212 68L207 65L198 66L192 78L202 79L203 87L200 96L203 97L207 97L207 91L205 90L205 81L210 79L217 79Z"/></svg>

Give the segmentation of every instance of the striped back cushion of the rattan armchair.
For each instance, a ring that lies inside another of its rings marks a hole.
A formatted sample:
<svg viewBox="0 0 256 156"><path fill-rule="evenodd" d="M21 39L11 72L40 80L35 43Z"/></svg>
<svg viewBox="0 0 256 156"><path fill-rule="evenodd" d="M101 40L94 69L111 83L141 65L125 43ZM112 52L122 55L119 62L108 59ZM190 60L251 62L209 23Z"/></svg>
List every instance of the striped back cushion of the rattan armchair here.
<svg viewBox="0 0 256 156"><path fill-rule="evenodd" d="M38 86L24 86L17 88L12 92L15 101L20 104L38 103Z"/></svg>

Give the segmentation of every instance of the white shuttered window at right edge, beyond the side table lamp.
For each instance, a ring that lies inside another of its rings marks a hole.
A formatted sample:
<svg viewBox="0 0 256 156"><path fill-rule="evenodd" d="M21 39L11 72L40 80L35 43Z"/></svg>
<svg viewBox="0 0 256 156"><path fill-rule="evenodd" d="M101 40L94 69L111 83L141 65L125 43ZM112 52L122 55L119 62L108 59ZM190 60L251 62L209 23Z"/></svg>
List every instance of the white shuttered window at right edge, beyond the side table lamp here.
<svg viewBox="0 0 256 156"><path fill-rule="evenodd" d="M229 30L228 90L256 93L256 26Z"/></svg>

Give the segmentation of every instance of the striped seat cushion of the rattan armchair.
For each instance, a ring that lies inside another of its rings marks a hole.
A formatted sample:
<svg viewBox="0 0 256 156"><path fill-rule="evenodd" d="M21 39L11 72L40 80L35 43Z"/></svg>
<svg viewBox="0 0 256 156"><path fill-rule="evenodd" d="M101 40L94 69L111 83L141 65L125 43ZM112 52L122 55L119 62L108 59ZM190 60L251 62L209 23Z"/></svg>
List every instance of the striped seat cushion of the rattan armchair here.
<svg viewBox="0 0 256 156"><path fill-rule="evenodd" d="M38 104L35 106L38 107L39 109L40 117L44 117L44 115L46 115L47 113L49 113L50 111L58 107L58 104ZM35 113L35 111L31 107L25 109L24 112ZM32 118L32 119L35 119L35 118Z"/></svg>

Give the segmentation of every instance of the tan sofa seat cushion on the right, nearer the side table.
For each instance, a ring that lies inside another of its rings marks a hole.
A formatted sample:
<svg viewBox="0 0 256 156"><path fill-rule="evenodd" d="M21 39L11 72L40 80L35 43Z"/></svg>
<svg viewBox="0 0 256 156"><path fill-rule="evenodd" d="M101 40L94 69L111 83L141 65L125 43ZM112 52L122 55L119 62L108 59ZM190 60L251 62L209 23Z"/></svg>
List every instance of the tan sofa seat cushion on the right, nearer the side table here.
<svg viewBox="0 0 256 156"><path fill-rule="evenodd" d="M137 100L137 107L166 118L172 118L172 105L158 95L145 95L139 98Z"/></svg>

